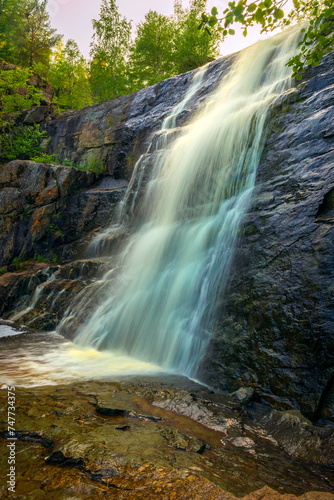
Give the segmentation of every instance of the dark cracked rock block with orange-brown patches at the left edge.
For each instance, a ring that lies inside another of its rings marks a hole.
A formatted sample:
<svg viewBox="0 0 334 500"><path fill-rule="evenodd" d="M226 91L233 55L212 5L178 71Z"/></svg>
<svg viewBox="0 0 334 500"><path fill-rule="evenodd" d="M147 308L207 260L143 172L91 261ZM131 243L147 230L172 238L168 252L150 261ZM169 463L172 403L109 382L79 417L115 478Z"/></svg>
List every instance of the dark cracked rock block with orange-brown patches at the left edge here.
<svg viewBox="0 0 334 500"><path fill-rule="evenodd" d="M70 258L108 224L126 182L94 172L14 160L0 170L0 265L34 255ZM102 184L101 184L102 182Z"/></svg>

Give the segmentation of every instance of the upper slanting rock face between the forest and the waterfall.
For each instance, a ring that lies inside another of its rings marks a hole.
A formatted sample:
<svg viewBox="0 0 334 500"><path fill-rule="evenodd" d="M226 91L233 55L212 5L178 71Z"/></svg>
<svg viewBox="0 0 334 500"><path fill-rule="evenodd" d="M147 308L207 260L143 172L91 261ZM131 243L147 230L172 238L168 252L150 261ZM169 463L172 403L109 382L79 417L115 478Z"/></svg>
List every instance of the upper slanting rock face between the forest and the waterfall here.
<svg viewBox="0 0 334 500"><path fill-rule="evenodd" d="M210 64L199 93L189 99L179 125L214 90L233 56ZM103 164L116 178L129 179L151 134L185 97L195 71L169 78L135 94L105 101L78 112L65 112L46 124L48 153L74 164Z"/></svg>

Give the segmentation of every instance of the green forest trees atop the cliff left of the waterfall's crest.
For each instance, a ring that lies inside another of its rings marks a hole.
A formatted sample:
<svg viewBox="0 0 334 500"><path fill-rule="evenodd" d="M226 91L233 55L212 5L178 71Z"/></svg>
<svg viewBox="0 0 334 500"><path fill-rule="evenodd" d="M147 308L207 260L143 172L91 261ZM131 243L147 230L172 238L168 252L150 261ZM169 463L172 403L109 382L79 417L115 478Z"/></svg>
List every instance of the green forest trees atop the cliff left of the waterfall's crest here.
<svg viewBox="0 0 334 500"><path fill-rule="evenodd" d="M176 0L173 15L151 10L132 37L131 22L119 13L116 1L102 0L99 18L92 20L86 61L75 40L64 41L51 26L47 0L0 0L0 62L46 79L60 110L79 109L216 58L219 30L208 34L198 29L205 8L206 0L190 0L187 8ZM12 94L13 78L6 73L2 78L8 79Z"/></svg>

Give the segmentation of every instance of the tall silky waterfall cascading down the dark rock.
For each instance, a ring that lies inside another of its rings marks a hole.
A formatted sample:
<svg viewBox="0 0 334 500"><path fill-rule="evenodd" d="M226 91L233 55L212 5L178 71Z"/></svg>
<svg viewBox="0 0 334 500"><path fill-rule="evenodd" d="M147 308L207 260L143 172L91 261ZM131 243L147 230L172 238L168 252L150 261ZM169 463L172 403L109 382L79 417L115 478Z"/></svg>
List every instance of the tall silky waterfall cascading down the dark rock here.
<svg viewBox="0 0 334 500"><path fill-rule="evenodd" d="M90 298L94 310L76 343L195 376L251 202L268 110L291 84L285 64L298 33L290 29L242 51L218 91L164 144L117 270ZM163 131L170 134L182 109ZM141 168L139 162L132 194Z"/></svg>

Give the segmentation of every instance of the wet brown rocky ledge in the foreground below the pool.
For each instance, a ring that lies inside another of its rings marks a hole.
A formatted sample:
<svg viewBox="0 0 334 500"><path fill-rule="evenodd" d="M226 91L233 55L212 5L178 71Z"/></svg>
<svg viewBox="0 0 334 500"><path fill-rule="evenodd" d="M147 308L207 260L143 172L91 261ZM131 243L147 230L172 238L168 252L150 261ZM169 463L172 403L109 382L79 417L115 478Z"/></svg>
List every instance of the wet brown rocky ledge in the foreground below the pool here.
<svg viewBox="0 0 334 500"><path fill-rule="evenodd" d="M15 397L13 499L334 499L333 432L298 411L245 406L168 376L18 388ZM7 389L1 399L9 453Z"/></svg>

